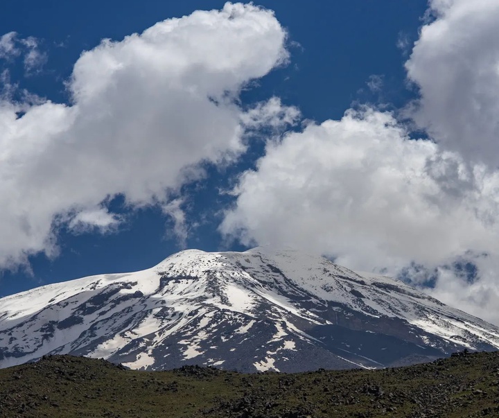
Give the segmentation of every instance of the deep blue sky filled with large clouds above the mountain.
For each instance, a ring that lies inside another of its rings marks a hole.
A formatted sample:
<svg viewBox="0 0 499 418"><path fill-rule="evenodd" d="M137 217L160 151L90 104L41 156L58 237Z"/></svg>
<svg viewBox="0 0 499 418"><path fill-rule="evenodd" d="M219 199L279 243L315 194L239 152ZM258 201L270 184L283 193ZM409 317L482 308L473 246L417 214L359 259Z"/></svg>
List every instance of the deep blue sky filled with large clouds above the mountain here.
<svg viewBox="0 0 499 418"><path fill-rule="evenodd" d="M482 315L497 291L497 3L0 6L0 295L183 247L275 244L431 282ZM193 89L203 101L184 100Z"/></svg>

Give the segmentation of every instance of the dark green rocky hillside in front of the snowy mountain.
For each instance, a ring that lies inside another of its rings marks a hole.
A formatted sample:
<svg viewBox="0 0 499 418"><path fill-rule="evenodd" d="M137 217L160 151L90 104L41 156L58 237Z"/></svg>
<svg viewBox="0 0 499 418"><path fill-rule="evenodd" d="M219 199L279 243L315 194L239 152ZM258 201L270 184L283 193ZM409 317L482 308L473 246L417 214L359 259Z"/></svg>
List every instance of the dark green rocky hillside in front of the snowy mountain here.
<svg viewBox="0 0 499 418"><path fill-rule="evenodd" d="M380 370L137 372L50 356L0 370L0 417L499 417L499 353Z"/></svg>

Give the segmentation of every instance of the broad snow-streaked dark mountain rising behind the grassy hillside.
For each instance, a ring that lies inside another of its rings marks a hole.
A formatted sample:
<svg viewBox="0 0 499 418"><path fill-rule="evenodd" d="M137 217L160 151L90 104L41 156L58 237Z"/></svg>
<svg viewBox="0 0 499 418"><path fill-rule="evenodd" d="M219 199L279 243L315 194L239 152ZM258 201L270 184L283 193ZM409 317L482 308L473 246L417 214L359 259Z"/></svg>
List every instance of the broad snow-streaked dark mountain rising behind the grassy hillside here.
<svg viewBox="0 0 499 418"><path fill-rule="evenodd" d="M402 281L294 250L187 250L0 299L0 367L45 354L134 369L386 367L499 348L499 329Z"/></svg>

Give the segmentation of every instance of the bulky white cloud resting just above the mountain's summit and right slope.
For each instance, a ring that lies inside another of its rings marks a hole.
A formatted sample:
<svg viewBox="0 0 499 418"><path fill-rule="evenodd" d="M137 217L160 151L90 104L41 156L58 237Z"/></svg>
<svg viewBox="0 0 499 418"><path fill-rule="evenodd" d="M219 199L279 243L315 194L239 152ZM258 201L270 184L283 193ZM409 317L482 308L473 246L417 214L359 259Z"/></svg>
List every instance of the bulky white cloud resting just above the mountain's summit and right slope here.
<svg viewBox="0 0 499 418"><path fill-rule="evenodd" d="M369 108L269 143L234 193L220 230L247 245L291 245L390 274L412 262L435 269L469 250L490 254L471 258L483 272L499 254L499 173L469 169Z"/></svg>

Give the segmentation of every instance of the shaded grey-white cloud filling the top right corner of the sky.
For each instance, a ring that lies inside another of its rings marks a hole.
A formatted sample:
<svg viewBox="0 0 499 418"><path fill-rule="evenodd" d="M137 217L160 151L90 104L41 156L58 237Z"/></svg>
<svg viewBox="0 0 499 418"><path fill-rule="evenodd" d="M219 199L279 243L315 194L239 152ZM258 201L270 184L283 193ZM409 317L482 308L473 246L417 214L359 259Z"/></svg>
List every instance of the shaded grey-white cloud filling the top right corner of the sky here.
<svg viewBox="0 0 499 418"><path fill-rule="evenodd" d="M431 0L405 64L421 98L412 116L449 150L498 167L499 1Z"/></svg>

